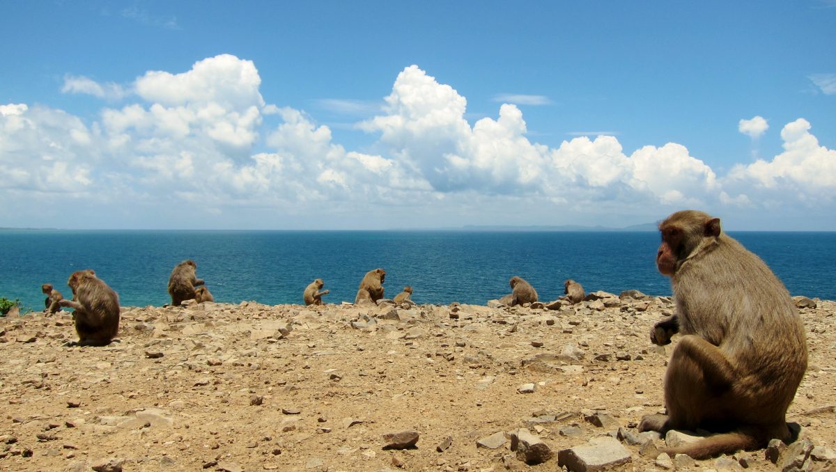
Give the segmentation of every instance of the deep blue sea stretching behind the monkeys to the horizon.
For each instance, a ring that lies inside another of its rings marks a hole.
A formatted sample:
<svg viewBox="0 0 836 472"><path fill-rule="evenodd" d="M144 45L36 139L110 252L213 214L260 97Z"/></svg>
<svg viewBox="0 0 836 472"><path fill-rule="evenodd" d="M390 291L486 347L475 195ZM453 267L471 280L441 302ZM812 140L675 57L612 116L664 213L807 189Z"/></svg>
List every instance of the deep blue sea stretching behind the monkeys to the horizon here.
<svg viewBox="0 0 836 472"><path fill-rule="evenodd" d="M836 299L836 232L732 232L772 267L793 295ZM217 302L301 303L314 278L327 302L354 301L365 272L386 270L385 295L405 285L418 303L484 304L531 282L541 300L572 278L587 292L637 289L670 295L655 267L658 233L549 231L0 231L0 297L43 309L42 283L69 297L66 281L94 269L123 306L169 302L180 261Z"/></svg>

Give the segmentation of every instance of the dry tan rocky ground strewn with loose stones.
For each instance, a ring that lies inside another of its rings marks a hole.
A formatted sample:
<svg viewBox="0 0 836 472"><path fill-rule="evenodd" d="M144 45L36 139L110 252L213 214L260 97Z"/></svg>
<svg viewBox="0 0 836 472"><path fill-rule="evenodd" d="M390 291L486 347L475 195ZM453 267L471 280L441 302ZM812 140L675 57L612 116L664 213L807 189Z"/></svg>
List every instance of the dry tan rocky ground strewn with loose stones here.
<svg viewBox="0 0 836 472"><path fill-rule="evenodd" d="M655 347L648 332L670 314L670 300L599 296L573 307L123 307L120 342L105 348L64 347L74 338L69 312L2 318L0 469L819 470L836 462L836 302L800 310L810 362L788 421L800 424L801 439L695 462L656 450L687 438L635 428L663 409L676 341Z"/></svg>

